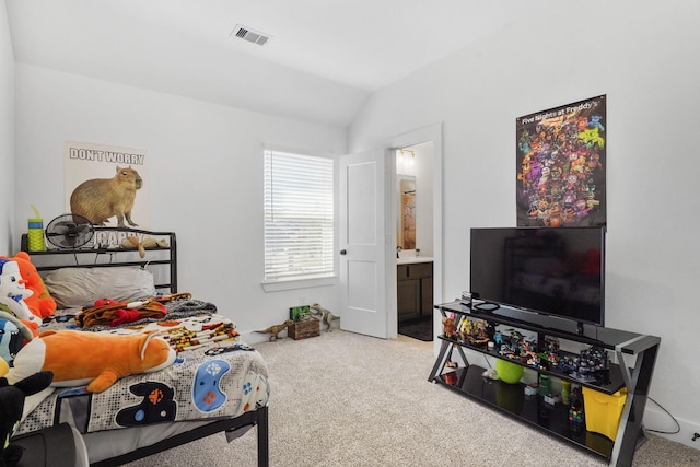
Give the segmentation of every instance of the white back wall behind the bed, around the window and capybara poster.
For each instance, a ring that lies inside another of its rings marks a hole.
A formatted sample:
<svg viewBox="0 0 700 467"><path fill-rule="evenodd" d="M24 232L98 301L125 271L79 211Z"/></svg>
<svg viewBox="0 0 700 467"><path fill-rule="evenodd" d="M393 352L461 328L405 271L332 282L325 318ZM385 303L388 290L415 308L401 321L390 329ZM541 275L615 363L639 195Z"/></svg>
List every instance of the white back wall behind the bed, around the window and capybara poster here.
<svg viewBox="0 0 700 467"><path fill-rule="evenodd" d="M20 63L16 102L18 222L26 223L31 203L46 223L66 212L66 140L145 149L150 226L178 235L180 291L215 303L243 332L281 323L301 295L338 310L335 285L261 289L261 150L341 154L342 129Z"/></svg>

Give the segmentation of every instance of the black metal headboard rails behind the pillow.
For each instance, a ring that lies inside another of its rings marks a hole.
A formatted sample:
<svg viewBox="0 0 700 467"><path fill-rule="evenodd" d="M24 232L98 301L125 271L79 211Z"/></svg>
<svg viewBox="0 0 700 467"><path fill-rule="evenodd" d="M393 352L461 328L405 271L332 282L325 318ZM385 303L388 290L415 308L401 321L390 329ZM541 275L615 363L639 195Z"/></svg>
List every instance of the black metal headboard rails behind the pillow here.
<svg viewBox="0 0 700 467"><path fill-rule="evenodd" d="M79 248L58 248L48 245L44 252L30 252L27 234L22 234L21 249L32 257L39 273L61 268L109 268L140 266L153 272L155 289L177 293L177 242L174 232L151 232L140 229L95 226L93 238ZM125 247L124 241L136 236L139 241L154 238L163 246L144 249L141 258L136 247Z"/></svg>

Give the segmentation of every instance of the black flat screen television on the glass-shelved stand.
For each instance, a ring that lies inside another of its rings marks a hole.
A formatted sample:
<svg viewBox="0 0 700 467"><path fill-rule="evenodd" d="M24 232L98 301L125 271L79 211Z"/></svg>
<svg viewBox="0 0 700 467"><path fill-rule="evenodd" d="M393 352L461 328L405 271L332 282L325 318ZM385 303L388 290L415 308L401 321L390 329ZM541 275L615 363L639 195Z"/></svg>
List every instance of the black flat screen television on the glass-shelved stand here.
<svg viewBox="0 0 700 467"><path fill-rule="evenodd" d="M470 255L482 307L605 325L605 227L471 229Z"/></svg>

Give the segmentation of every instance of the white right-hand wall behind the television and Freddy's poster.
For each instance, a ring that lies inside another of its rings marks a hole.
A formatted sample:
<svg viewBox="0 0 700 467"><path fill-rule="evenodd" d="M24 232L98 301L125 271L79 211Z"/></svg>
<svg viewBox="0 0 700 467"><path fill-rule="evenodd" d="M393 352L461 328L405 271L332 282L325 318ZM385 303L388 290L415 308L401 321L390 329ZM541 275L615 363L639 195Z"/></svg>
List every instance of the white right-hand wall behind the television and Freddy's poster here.
<svg viewBox="0 0 700 467"><path fill-rule="evenodd" d="M651 396L688 445L700 428L699 21L691 1L558 3L375 93L349 132L355 152L443 124L443 296L458 296L469 229L516 223L515 119L607 94L606 324L662 337ZM645 423L675 429L653 402Z"/></svg>

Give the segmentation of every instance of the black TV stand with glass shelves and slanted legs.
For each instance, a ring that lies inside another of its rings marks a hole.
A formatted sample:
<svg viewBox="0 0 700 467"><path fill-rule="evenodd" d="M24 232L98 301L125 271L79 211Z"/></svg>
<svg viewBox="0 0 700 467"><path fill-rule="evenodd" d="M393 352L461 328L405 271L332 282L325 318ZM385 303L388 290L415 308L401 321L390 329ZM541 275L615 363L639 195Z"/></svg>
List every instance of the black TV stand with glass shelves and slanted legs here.
<svg viewBox="0 0 700 467"><path fill-rule="evenodd" d="M479 342L455 338L454 336L439 336L440 352L430 373L429 381L443 385L470 399L477 400L491 408L501 410L510 417L540 429L560 440L573 443L575 446L603 456L610 466L631 466L637 447L646 440L642 425L644 408L649 395L654 364L661 338L645 336L584 323L564 323L547 316L520 312L509 308L481 312L477 308L462 305L458 301L435 305L443 317L448 314L481 320L492 327L501 329L516 328L537 335L538 351L541 350L547 338L561 341L583 343L605 349L605 352L616 357L616 363L610 363L595 381L585 381L567 374L552 366L541 369L528 365L521 360L508 360L515 364L532 369L539 375L546 374L552 378L570 381L580 386L614 395L627 388L627 399L622 408L620 423L615 441L603 434L587 432L585 425L582 431L571 429L569 423L569 406L561 402L546 404L542 396L524 396L525 385L522 383L506 384L491 381L482 376L485 369L470 364L465 350L504 359L499 352ZM568 327L565 326L568 325ZM575 330L572 329L575 326ZM455 354L456 352L456 354ZM454 367L454 360L462 360L462 366ZM452 362L447 365L448 362ZM487 381L488 380L488 381ZM487 384L488 383L488 384ZM498 397L497 397L498 394ZM505 400L505 402L504 402ZM542 422L541 408L546 406L548 417Z"/></svg>

